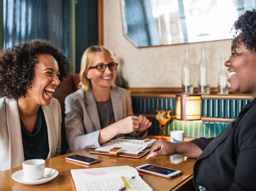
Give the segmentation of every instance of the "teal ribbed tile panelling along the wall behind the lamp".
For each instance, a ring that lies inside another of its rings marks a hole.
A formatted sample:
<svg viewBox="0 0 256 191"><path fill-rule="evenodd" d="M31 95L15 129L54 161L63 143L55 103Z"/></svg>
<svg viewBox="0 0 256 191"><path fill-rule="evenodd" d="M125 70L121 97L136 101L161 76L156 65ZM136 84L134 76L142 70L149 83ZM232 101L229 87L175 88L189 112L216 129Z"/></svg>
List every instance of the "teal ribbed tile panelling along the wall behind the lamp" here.
<svg viewBox="0 0 256 191"><path fill-rule="evenodd" d="M201 100L202 117L236 118L238 113L251 100L206 99ZM175 115L175 98L141 98L132 97L132 108L135 114L156 114L156 110L171 110ZM149 135L161 135L159 122L154 117L149 117L152 126L148 128ZM172 130L185 131L185 137L215 137L227 127L229 123L208 121L181 121L170 120L164 134L170 136Z"/></svg>

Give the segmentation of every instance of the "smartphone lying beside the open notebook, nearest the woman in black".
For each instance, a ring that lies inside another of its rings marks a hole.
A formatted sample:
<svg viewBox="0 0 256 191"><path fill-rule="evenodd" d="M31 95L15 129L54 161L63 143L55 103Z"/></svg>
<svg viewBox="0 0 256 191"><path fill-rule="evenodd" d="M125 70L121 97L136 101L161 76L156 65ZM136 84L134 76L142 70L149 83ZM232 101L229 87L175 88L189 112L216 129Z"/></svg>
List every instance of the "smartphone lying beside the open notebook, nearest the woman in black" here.
<svg viewBox="0 0 256 191"><path fill-rule="evenodd" d="M174 178L182 174L182 171L174 170L171 168L165 168L157 165L144 164L135 167L138 171L154 174L165 178Z"/></svg>

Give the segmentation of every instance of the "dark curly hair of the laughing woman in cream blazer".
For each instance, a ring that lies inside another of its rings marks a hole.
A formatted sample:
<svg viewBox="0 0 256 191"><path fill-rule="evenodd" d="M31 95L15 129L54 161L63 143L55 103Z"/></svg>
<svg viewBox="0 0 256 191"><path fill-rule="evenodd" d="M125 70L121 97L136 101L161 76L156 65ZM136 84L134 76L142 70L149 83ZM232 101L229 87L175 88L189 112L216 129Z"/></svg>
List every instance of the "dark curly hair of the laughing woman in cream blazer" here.
<svg viewBox="0 0 256 191"><path fill-rule="evenodd" d="M59 80L71 71L68 59L52 43L44 39L34 39L2 49L0 52L0 97L18 99L26 97L26 89L31 88L38 54L51 54L59 65Z"/></svg>

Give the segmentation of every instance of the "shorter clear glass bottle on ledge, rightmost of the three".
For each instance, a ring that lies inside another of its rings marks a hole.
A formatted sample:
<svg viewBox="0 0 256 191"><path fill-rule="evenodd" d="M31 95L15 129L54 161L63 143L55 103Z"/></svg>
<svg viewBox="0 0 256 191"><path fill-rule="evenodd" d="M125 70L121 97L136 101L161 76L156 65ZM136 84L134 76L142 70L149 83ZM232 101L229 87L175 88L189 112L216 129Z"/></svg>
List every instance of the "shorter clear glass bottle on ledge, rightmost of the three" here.
<svg viewBox="0 0 256 191"><path fill-rule="evenodd" d="M218 94L228 94L229 88L227 83L228 73L227 68L225 67L226 59L225 57L221 57L221 69L218 74Z"/></svg>

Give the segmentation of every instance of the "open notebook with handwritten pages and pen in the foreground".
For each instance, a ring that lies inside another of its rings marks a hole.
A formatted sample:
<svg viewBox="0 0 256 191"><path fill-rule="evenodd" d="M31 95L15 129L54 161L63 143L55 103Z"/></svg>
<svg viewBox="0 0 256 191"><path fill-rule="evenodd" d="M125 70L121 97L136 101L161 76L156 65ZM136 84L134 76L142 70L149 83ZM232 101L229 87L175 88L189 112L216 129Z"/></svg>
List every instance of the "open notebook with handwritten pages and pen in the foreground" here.
<svg viewBox="0 0 256 191"><path fill-rule="evenodd" d="M153 191L130 166L72 169L71 177L77 191Z"/></svg>

